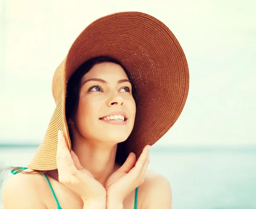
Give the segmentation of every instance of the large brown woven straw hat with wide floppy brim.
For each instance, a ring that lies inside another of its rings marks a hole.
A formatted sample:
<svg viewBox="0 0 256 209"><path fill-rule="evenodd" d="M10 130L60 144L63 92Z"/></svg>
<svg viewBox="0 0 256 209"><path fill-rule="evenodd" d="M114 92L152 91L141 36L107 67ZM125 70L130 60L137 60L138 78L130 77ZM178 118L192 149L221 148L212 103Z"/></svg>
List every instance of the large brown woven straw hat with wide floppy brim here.
<svg viewBox="0 0 256 209"><path fill-rule="evenodd" d="M58 130L63 131L71 150L65 115L67 82L90 58L111 56L130 73L137 96L134 128L123 142L123 159L134 152L140 157L145 145L153 145L176 122L189 90L185 54L170 29L142 12L118 12L87 26L73 42L52 80L56 108L47 132L27 168L57 169Z"/></svg>

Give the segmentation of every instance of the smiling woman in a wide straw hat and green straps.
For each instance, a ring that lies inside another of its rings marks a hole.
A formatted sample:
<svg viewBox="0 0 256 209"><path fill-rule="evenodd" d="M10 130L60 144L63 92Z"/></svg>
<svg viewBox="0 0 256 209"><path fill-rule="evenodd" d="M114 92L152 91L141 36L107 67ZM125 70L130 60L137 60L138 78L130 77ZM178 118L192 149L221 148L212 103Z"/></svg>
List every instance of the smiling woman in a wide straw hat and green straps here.
<svg viewBox="0 0 256 209"><path fill-rule="evenodd" d="M5 209L170 209L168 180L147 170L149 147L188 87L185 55L162 22L141 12L94 21L55 71L56 109L32 161L12 170Z"/></svg>

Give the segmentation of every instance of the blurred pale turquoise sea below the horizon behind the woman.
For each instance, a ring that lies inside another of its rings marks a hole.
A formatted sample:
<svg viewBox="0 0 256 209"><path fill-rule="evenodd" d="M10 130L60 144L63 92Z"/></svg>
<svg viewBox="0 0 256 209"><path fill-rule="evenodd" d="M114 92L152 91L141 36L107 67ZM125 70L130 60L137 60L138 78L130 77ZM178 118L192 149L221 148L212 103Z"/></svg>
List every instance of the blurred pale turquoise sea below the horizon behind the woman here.
<svg viewBox="0 0 256 209"><path fill-rule="evenodd" d="M37 147L0 146L0 168L26 166ZM153 145L148 169L168 178L172 209L256 209L256 145Z"/></svg>

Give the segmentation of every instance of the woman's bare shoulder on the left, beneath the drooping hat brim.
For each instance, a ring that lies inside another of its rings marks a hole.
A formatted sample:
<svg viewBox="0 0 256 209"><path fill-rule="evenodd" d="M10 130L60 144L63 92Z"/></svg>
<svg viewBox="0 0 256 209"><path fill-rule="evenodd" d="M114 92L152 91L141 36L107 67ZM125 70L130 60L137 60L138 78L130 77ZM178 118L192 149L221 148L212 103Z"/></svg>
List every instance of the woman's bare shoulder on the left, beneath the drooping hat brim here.
<svg viewBox="0 0 256 209"><path fill-rule="evenodd" d="M3 188L4 208L47 209L43 199L40 197L40 190L38 189L43 184L41 176L40 174L19 173L9 177Z"/></svg>

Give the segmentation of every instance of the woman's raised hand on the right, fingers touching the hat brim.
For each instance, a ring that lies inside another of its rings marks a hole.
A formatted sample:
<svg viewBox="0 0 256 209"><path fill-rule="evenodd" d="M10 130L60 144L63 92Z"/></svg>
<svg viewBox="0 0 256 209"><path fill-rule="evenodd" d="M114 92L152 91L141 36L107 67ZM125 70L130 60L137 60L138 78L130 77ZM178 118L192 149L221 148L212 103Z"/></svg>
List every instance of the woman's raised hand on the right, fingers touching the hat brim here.
<svg viewBox="0 0 256 209"><path fill-rule="evenodd" d="M107 198L112 198L122 203L128 194L144 182L145 171L149 163L150 147L150 145L144 147L134 167L136 155L131 152L125 163L108 178L105 185Z"/></svg>

